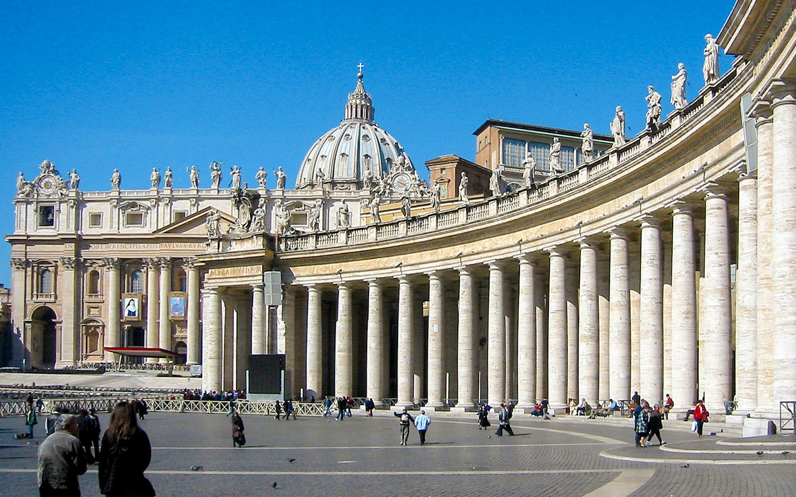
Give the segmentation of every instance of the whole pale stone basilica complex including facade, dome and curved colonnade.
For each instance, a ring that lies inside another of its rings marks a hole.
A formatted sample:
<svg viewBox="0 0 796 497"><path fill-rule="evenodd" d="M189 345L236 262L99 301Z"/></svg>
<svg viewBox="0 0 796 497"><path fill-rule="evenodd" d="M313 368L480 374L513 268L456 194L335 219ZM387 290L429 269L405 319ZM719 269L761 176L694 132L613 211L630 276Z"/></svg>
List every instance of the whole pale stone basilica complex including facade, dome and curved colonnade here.
<svg viewBox="0 0 796 497"><path fill-rule="evenodd" d="M83 192L45 161L21 175L6 237L12 362L166 348L219 390L245 386L248 355L280 353L290 394L316 399L559 409L638 390L684 409L704 395L713 414L736 402L753 429L796 400L794 2L739 1L716 41L732 67L712 66L710 37L704 87L663 116L650 89L637 137L621 107L614 142L589 150L587 126L486 122L477 161L432 159L430 184L361 74L293 189L237 168L220 188L214 163L211 188L154 171L150 189L115 175ZM524 173L540 144L548 169Z"/></svg>

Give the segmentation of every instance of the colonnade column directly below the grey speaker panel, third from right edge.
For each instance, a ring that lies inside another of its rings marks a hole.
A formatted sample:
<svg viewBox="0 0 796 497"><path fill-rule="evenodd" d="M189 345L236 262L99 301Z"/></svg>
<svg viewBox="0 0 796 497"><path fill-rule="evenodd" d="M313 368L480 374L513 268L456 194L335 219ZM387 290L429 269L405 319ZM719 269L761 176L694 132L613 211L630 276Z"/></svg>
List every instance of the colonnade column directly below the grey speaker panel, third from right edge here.
<svg viewBox="0 0 796 497"><path fill-rule="evenodd" d="M757 180L741 173L736 268L736 399L739 413L757 408Z"/></svg>

